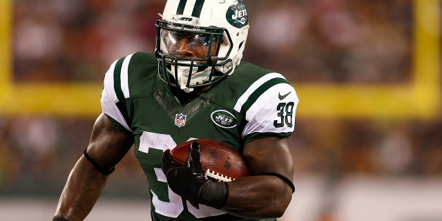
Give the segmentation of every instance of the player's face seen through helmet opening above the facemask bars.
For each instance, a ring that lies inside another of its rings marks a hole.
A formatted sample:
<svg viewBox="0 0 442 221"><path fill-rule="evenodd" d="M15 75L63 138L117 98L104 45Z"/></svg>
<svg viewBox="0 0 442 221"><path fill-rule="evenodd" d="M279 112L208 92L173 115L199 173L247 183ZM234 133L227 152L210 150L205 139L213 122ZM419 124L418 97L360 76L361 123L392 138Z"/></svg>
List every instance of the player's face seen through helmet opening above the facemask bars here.
<svg viewBox="0 0 442 221"><path fill-rule="evenodd" d="M175 57L206 58L215 55L220 37L210 34L162 30L167 54Z"/></svg>

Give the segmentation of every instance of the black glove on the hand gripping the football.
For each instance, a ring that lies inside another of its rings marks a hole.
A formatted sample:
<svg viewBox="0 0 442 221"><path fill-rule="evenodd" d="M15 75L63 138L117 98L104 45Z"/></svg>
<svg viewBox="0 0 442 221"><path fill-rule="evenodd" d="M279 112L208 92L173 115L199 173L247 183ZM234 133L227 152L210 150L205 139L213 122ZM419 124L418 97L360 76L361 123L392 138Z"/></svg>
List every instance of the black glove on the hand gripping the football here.
<svg viewBox="0 0 442 221"><path fill-rule="evenodd" d="M207 179L200 156L200 144L193 142L187 164L178 166L173 163L171 151L166 150L162 156L162 171L172 191L189 200L195 208L200 209L198 204L205 204L220 209L227 201L227 183Z"/></svg>

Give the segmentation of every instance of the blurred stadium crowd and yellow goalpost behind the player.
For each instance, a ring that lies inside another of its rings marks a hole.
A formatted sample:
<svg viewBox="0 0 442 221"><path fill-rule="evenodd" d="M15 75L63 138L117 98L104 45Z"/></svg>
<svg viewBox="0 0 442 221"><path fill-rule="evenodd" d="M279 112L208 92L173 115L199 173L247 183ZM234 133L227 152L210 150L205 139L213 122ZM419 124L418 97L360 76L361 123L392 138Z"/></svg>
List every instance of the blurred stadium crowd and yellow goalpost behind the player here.
<svg viewBox="0 0 442 221"><path fill-rule="evenodd" d="M245 61L300 97L285 221L442 220L440 0L244 0ZM115 59L162 1L0 0L0 220L50 220ZM87 220L150 220L133 154Z"/></svg>

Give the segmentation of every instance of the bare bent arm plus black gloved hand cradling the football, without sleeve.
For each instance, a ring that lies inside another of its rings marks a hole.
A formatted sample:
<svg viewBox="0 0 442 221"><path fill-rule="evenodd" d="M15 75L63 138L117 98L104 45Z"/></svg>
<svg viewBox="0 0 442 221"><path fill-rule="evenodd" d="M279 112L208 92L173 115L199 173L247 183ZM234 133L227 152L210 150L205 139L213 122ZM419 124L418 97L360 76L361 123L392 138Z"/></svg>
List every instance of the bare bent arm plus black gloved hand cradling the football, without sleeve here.
<svg viewBox="0 0 442 221"><path fill-rule="evenodd" d="M173 163L164 151L162 171L170 188L189 200L212 206L243 218L275 218L284 214L294 192L294 163L286 138L266 137L244 146L243 157L251 176L232 182L204 177L198 142L192 144L186 166Z"/></svg>

